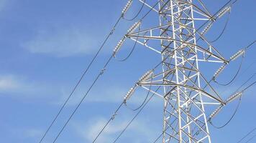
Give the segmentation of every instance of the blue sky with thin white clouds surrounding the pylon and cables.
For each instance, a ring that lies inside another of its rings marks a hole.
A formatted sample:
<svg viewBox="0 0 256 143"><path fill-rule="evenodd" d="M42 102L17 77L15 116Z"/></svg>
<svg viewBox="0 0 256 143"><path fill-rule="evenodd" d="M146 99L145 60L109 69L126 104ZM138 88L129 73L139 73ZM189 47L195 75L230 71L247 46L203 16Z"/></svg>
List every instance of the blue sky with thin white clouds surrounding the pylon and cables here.
<svg viewBox="0 0 256 143"><path fill-rule="evenodd" d="M39 142L126 2L0 0L0 142ZM221 0L205 2L212 13L224 4ZM134 2L128 16L137 13L139 4ZM225 57L228 58L255 40L255 5L254 0L244 0L238 1L232 8L227 31L214 43ZM147 10L145 8L142 13ZM116 43L132 24L134 21L121 21L117 26L116 33L109 39L97 62L91 66L45 142L52 142ZM207 38L212 39L219 34L223 25L224 20L220 20L207 34ZM119 56L127 55L129 49L128 43ZM256 61L255 52L255 46L247 52L242 71L251 66L239 75L234 84L228 88L214 86L224 97L255 73L256 63L252 64ZM88 94L58 142L91 142L134 82L159 61L160 56L143 46L137 46L125 62L111 61L106 73ZM238 61L230 64L220 80L232 78L238 65ZM244 94L237 116L227 127L214 129L210 126L213 142L236 142L256 127L255 92L256 88L252 87ZM131 106L140 104L144 94L146 92L143 91L134 94ZM236 104L237 101L224 108L214 122L224 124ZM134 112L122 108L99 142L111 142L132 119L132 115ZM161 99L154 98L119 142L152 142L161 132L162 118L163 103ZM255 141L256 138L252 140Z"/></svg>

